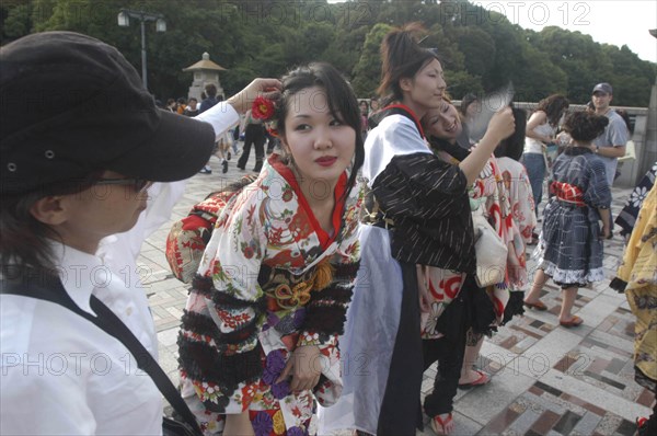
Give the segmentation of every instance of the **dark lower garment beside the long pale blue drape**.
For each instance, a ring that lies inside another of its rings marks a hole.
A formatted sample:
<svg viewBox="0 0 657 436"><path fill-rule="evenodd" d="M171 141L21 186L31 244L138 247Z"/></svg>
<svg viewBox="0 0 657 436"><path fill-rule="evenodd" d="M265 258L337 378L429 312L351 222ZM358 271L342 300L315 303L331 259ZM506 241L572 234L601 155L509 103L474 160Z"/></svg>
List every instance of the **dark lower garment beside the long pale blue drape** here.
<svg viewBox="0 0 657 436"><path fill-rule="evenodd" d="M416 423L413 417L419 406L423 360L417 274L415 264L401 263L400 265L404 284L400 326L379 414L377 428L379 436L414 436Z"/></svg>

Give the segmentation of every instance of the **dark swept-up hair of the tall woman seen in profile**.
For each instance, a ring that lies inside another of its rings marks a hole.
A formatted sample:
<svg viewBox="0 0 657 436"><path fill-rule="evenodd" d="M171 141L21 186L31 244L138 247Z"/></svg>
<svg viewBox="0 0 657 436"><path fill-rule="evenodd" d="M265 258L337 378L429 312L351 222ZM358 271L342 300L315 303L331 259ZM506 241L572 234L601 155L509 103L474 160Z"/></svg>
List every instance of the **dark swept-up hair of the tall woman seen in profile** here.
<svg viewBox="0 0 657 436"><path fill-rule="evenodd" d="M417 37L424 32L422 24L415 22L388 33L381 43L381 83L377 92L384 96L383 106L391 101L403 99L400 80L413 78L417 71L438 55L434 50L423 48Z"/></svg>

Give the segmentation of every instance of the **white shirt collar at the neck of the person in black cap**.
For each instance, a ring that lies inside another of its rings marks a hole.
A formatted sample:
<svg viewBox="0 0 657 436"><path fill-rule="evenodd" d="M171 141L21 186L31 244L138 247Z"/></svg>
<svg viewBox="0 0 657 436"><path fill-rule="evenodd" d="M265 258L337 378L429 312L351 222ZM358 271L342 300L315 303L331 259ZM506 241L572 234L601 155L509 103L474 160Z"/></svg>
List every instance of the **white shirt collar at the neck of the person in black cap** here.
<svg viewBox="0 0 657 436"><path fill-rule="evenodd" d="M51 250L59 278L69 297L85 312L91 310L93 288L110 280L110 271L99 257L62 243L51 242Z"/></svg>

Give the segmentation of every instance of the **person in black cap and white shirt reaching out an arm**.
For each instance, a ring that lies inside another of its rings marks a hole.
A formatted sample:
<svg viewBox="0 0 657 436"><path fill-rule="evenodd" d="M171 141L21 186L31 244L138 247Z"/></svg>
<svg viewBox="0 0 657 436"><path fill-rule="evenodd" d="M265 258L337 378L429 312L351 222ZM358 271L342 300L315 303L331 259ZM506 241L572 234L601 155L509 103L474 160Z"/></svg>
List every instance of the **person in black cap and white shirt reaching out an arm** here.
<svg viewBox="0 0 657 436"><path fill-rule="evenodd" d="M208 124L157 108L120 53L85 35L25 36L0 62L0 433L160 434L161 393L101 324L118 318L103 325L157 359L135 259L183 185L154 182L196 174L279 82L256 79Z"/></svg>

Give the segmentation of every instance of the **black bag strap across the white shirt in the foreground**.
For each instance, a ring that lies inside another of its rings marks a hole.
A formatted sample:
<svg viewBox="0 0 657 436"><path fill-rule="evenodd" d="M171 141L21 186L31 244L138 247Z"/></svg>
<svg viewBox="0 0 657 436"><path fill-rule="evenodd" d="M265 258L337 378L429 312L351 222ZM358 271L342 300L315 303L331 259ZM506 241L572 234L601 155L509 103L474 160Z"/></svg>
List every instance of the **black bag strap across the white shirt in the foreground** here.
<svg viewBox="0 0 657 436"><path fill-rule="evenodd" d="M123 323L123 321L105 306L94 295L91 296L91 309L97 313L97 317L92 315L80 309L71 297L68 295L59 279L50 280L51 288L47 288L38 284L35 279L24 278L19 279L2 279L0 280L0 294L13 294L24 297L36 298L60 305L70 311L79 314L85 320L94 323L99 329L107 334L116 337L137 359L137 366L145 371L153 380L160 392L164 395L171 406L192 426L194 432L201 435L203 432L194 417L194 414L181 397L178 390L173 386L166 374L162 370L158 362L139 342L135 334Z"/></svg>

